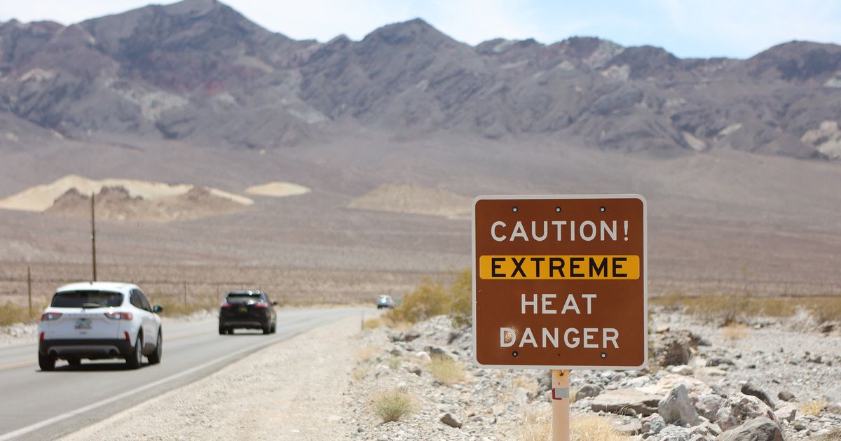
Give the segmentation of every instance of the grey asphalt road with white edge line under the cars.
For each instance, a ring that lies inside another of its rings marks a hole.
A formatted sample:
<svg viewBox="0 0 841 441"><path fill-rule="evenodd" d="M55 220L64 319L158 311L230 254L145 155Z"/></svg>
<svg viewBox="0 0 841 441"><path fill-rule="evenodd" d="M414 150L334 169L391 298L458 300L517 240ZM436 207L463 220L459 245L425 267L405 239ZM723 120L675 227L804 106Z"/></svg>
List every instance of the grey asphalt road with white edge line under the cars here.
<svg viewBox="0 0 841 441"><path fill-rule="evenodd" d="M215 319L163 323L160 365L127 370L123 360L82 361L71 369L59 361L56 370L38 368L37 345L0 348L0 441L53 439L128 407L203 378L270 344L320 325L354 315L363 308L278 311L278 332L237 330L219 335ZM308 354L301 354L307 356Z"/></svg>

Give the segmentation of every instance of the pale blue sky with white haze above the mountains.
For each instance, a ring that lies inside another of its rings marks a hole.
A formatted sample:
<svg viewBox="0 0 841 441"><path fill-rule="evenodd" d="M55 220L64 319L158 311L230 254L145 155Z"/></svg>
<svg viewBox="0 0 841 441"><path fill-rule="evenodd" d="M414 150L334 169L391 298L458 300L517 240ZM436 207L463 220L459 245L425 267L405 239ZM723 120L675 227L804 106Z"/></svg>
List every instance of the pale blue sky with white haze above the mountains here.
<svg viewBox="0 0 841 441"><path fill-rule="evenodd" d="M72 24L148 0L27 0L0 20ZM162 2L172 3L172 2ZM362 39L384 24L423 18L470 45L494 38L553 43L574 35L655 45L681 58L748 58L793 39L841 43L836 0L227 0L262 27L294 39Z"/></svg>

